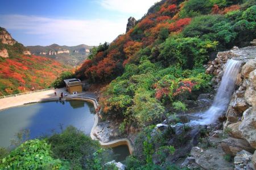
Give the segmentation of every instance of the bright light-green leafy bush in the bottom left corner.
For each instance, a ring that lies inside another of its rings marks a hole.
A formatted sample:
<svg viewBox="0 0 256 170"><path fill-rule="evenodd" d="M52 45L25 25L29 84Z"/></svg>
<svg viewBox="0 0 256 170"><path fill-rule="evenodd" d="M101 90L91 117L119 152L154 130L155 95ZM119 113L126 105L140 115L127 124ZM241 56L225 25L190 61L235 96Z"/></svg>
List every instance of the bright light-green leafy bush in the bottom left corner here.
<svg viewBox="0 0 256 170"><path fill-rule="evenodd" d="M61 169L67 163L52 158L51 146L39 139L22 143L1 160L0 169Z"/></svg>

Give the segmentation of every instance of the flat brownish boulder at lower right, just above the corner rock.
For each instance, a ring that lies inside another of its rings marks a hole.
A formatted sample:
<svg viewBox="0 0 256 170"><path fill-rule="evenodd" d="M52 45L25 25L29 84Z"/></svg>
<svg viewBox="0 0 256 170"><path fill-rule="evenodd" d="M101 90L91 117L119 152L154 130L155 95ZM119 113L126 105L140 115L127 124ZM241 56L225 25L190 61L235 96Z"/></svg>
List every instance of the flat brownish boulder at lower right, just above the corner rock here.
<svg viewBox="0 0 256 170"><path fill-rule="evenodd" d="M250 144L243 139L236 138L227 138L223 139L221 142L222 150L229 155L235 156L237 152L242 150L246 150L249 152L253 152L254 149L251 148Z"/></svg>

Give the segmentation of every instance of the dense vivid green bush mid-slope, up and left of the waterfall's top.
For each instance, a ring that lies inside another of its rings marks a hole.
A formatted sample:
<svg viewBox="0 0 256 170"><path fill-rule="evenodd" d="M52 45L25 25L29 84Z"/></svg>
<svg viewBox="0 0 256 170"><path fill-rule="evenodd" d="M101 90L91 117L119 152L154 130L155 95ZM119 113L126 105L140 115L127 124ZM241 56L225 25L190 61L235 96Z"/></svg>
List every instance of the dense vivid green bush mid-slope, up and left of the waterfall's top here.
<svg viewBox="0 0 256 170"><path fill-rule="evenodd" d="M180 39L168 38L160 45L159 60L163 65L176 65L183 69L200 67L209 59L207 55L214 50L217 42L202 41L197 37Z"/></svg>

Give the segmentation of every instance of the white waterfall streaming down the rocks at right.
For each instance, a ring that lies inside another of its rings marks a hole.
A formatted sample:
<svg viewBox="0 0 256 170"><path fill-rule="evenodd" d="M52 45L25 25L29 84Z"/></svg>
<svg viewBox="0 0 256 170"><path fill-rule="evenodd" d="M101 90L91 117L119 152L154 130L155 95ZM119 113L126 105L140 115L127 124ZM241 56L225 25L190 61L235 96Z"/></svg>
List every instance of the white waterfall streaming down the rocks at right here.
<svg viewBox="0 0 256 170"><path fill-rule="evenodd" d="M193 120L189 124L209 125L217 121L218 117L228 107L240 65L240 61L234 59L228 60L224 66L224 75L222 76L220 87L218 87L212 106L204 113L197 113L196 116L200 117L199 120Z"/></svg>

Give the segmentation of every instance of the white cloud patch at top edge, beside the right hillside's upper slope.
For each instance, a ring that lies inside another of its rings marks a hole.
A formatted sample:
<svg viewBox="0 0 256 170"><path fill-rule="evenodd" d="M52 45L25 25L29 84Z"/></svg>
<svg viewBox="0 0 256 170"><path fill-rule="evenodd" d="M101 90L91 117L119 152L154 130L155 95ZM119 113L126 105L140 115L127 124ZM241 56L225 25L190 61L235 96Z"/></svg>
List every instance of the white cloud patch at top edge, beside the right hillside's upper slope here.
<svg viewBox="0 0 256 170"><path fill-rule="evenodd" d="M147 13L154 3L160 0L97 0L100 5L109 10L115 10L131 14L136 19L140 19Z"/></svg>

